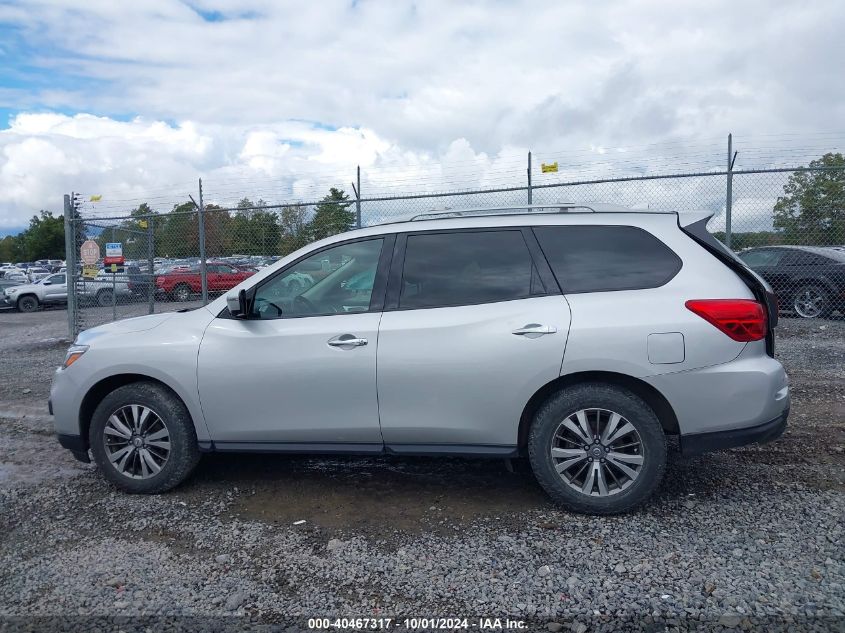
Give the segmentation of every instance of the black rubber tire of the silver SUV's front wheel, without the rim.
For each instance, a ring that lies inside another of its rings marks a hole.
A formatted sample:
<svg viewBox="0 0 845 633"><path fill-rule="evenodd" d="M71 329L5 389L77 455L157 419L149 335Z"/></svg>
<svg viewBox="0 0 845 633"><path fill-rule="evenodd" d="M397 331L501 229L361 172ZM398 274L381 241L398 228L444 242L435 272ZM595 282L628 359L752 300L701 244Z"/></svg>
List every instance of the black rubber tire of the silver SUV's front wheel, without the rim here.
<svg viewBox="0 0 845 633"><path fill-rule="evenodd" d="M170 454L167 461L158 473L146 479L124 475L106 454L104 437L109 417L132 404L155 411L169 432ZM197 435L187 407L173 392L154 382L124 385L103 398L91 419L88 441L94 461L106 479L131 493L156 494L170 490L187 479L200 460Z"/></svg>

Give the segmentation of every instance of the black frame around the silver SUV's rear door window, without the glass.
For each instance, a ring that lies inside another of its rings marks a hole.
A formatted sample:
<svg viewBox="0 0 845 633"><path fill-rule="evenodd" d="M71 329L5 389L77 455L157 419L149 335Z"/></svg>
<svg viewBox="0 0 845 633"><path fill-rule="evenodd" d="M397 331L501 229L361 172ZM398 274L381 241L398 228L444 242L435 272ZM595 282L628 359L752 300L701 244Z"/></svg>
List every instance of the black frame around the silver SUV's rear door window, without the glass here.
<svg viewBox="0 0 845 633"><path fill-rule="evenodd" d="M486 233L486 232L500 232L500 231L519 231L528 248L528 254L531 257L533 266L537 269L543 285L546 287L545 293L537 293L528 297L520 299L505 299L505 301L521 301L522 299L530 299L531 297L542 297L548 295L562 294L557 281L554 278L551 267L542 254L537 238L531 232L531 227L527 226L495 226L495 227L466 227L456 229L430 229L427 231L407 231L398 233L396 237L396 244L393 248L393 259L390 265L390 275L387 285L387 295L384 303L385 312L407 311L407 310L432 310L435 307L429 308L400 308L399 296L402 291L402 277L405 269L405 252L408 245L408 237L414 235L438 235L444 233ZM535 248L536 247L536 251ZM485 301L482 303L458 303L448 306L436 306L439 308L460 307L470 305L486 305L488 303L500 303L497 301Z"/></svg>

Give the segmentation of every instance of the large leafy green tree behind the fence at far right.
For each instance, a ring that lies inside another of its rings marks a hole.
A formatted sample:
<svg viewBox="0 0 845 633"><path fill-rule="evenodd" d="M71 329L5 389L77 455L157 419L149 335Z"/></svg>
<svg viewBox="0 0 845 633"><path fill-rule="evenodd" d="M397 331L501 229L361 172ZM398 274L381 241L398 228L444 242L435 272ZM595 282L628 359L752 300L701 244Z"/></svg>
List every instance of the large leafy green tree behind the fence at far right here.
<svg viewBox="0 0 845 633"><path fill-rule="evenodd" d="M845 157L827 153L796 171L774 207L774 227L788 244L845 243Z"/></svg>

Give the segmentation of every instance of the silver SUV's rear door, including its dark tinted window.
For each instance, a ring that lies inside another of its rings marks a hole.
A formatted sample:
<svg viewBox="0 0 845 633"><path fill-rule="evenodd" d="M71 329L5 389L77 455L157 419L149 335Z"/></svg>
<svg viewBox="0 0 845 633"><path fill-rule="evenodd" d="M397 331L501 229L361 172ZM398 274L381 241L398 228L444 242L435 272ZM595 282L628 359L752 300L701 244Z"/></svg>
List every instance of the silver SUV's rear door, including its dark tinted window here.
<svg viewBox="0 0 845 633"><path fill-rule="evenodd" d="M525 404L560 375L568 330L529 230L400 236L379 328L388 449L510 452Z"/></svg>

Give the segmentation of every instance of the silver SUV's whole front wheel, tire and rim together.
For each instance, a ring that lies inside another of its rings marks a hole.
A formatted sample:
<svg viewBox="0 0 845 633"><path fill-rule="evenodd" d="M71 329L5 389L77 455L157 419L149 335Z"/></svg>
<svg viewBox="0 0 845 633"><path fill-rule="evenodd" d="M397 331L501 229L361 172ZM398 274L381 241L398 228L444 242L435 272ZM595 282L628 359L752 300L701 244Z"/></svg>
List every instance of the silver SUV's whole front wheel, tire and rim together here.
<svg viewBox="0 0 845 633"><path fill-rule="evenodd" d="M136 382L103 398L88 441L106 479L127 492L153 494L179 485L200 453L185 404L164 386Z"/></svg>

